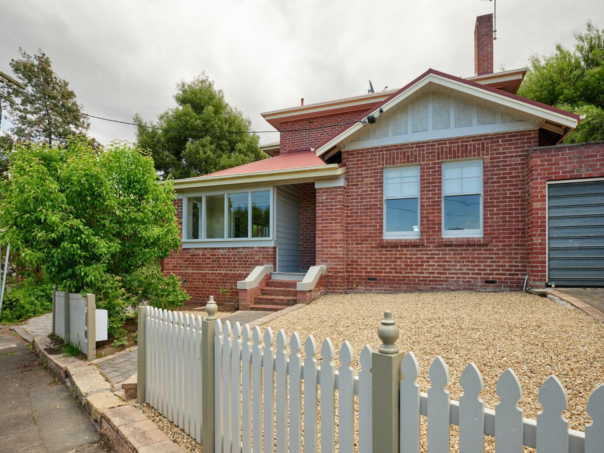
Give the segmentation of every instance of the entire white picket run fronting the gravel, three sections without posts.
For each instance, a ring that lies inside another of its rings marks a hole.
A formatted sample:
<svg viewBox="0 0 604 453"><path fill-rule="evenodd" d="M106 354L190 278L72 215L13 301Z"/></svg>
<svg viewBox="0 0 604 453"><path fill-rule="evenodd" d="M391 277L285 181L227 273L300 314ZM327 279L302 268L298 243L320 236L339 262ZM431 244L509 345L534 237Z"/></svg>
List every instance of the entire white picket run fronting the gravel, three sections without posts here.
<svg viewBox="0 0 604 453"><path fill-rule="evenodd" d="M318 365L312 335L303 345L297 333L288 342L281 330L275 347L271 329L262 332L255 327L252 331L247 324L231 327L229 321L217 320L214 336L208 336L213 338L213 369L202 370L201 326L199 316L147 307L145 399L199 441L201 383L209 382L205 379L211 373L214 453L333 453L336 443L341 453L374 451L374 428L384 421L384 414L372 413L374 392L381 389L372 388L372 356L376 352L369 345L361 352L362 369L357 376L347 341L339 348L341 365L336 369L335 349L329 338L321 345ZM391 400L400 402L400 443L396 449L400 453L420 452L421 416L427 419L430 453L450 451L451 425L459 426L462 453L484 452L485 435L495 438L496 453L518 453L523 446L539 453L604 452L604 385L591 394L586 411L593 423L580 432L569 429L562 417L567 396L555 376L541 386L538 399L543 411L533 420L524 418L518 406L522 388L511 369L498 380L496 393L501 402L490 410L480 399L483 381L473 363L461 374L463 394L459 402L451 400L446 391L449 373L442 358L437 357L429 368L431 387L427 393L417 384L419 366L413 352L406 353L399 363L403 379L399 388L395 385Z"/></svg>

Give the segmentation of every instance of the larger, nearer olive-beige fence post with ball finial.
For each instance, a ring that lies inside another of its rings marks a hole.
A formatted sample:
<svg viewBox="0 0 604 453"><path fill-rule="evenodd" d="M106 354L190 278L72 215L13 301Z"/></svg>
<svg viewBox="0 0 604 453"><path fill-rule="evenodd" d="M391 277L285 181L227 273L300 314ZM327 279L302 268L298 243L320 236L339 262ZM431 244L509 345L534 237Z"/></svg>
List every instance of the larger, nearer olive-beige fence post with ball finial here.
<svg viewBox="0 0 604 453"><path fill-rule="evenodd" d="M398 453L400 364L403 353L395 344L399 338L399 328L390 311L384 312L377 336L382 344L377 352L371 353L373 451Z"/></svg>

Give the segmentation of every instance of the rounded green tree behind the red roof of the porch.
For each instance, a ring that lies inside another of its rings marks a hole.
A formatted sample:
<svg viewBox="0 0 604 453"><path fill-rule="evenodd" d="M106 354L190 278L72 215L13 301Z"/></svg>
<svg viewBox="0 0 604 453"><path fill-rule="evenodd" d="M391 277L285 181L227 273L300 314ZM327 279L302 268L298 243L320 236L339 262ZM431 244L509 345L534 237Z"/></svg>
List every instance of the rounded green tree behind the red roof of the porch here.
<svg viewBox="0 0 604 453"><path fill-rule="evenodd" d="M146 123L139 114L134 117L138 144L151 151L162 178L205 175L266 157L258 135L245 133L251 127L249 118L226 102L205 73L178 83L174 100L176 107L155 122Z"/></svg>

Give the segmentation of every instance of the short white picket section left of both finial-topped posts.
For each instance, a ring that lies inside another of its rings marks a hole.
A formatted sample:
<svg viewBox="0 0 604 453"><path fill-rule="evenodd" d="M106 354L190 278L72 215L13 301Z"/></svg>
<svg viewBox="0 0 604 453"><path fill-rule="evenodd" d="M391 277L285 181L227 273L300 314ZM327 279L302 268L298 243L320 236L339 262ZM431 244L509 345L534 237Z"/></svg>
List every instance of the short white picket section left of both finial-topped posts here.
<svg viewBox="0 0 604 453"><path fill-rule="evenodd" d="M201 442L201 317L152 307L146 313L145 399Z"/></svg>

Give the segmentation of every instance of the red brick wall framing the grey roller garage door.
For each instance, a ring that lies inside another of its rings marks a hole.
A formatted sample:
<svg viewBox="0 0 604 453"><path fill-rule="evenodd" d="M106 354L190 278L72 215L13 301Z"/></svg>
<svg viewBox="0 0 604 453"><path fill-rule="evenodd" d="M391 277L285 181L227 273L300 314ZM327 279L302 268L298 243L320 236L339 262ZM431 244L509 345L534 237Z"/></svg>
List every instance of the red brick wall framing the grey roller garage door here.
<svg viewBox="0 0 604 453"><path fill-rule="evenodd" d="M604 178L604 143L548 146L527 155L528 279L547 282L547 181Z"/></svg>

